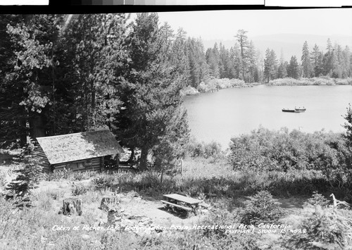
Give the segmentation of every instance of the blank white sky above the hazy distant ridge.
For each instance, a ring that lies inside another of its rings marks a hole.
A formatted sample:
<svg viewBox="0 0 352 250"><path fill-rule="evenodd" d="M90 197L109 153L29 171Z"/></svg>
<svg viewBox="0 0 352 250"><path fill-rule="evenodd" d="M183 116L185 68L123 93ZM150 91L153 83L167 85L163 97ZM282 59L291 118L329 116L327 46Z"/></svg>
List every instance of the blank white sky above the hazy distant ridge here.
<svg viewBox="0 0 352 250"><path fill-rule="evenodd" d="M234 39L237 30L249 37L275 34L342 35L352 37L352 8L296 10L227 10L158 13L173 30L183 27L189 37Z"/></svg>

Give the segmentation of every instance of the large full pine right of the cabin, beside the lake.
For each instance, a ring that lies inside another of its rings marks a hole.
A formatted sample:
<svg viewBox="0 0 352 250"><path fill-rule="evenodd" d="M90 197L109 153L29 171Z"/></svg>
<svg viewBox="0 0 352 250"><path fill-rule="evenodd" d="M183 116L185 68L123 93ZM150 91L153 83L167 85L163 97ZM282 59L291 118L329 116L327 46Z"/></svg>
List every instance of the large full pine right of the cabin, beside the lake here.
<svg viewBox="0 0 352 250"><path fill-rule="evenodd" d="M116 133L122 144L141 149L140 168L146 170L150 151L160 149L161 144L175 142L175 138L168 138L170 135L180 140L188 135L187 125L175 122L185 115L185 111L180 111L180 89L184 82L169 61L170 37L163 32L163 27L158 27L156 13L137 15L130 41L130 70L119 87L125 110L118 114L117 120L124 123L116 123ZM183 123L186 121L182 120ZM165 152L158 151L158 154L168 158Z"/></svg>

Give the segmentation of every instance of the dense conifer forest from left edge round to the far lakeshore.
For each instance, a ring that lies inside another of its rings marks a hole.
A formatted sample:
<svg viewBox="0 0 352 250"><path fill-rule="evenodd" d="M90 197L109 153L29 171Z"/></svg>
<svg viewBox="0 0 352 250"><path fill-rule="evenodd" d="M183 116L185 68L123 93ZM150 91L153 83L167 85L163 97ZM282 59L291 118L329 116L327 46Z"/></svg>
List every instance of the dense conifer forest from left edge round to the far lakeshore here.
<svg viewBox="0 0 352 250"><path fill-rule="evenodd" d="M287 62L270 48L261 55L246 30L234 32L230 49L216 43L204 48L201 38L160 23L157 13L134 20L125 13L1 15L0 32L3 147L23 146L28 135L109 127L122 144L145 152L165 144L166 131L187 137L180 108L184 87L205 92L285 77L352 74L348 46L329 39L325 51L302 41L301 58Z"/></svg>

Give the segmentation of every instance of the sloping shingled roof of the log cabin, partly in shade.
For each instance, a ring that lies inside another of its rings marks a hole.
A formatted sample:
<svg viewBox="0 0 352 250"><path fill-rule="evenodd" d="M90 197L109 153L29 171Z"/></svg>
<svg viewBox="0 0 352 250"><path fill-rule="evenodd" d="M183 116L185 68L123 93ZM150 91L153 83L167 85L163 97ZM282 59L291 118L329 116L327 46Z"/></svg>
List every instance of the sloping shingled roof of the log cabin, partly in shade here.
<svg viewBox="0 0 352 250"><path fill-rule="evenodd" d="M50 164L124 153L109 130L39 137L37 142Z"/></svg>

